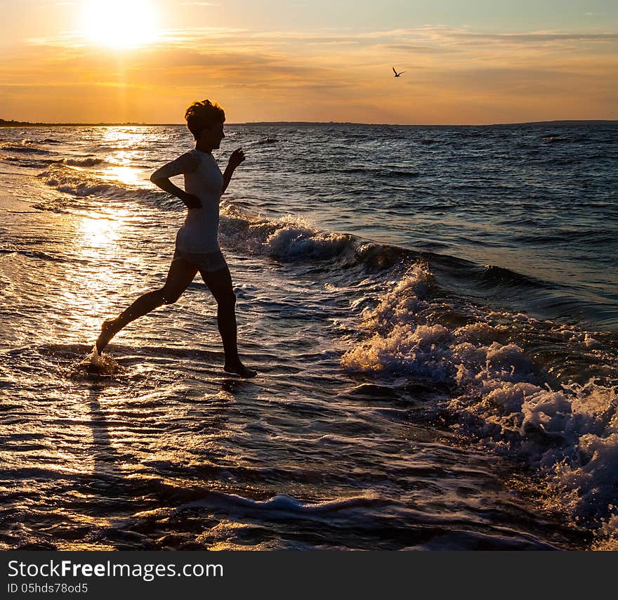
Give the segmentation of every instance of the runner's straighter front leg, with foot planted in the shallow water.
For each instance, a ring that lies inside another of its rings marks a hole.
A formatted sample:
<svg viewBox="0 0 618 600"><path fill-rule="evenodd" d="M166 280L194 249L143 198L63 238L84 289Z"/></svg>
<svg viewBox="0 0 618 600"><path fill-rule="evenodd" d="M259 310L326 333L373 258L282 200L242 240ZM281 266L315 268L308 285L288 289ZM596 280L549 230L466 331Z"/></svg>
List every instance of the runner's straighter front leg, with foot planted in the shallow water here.
<svg viewBox="0 0 618 600"><path fill-rule="evenodd" d="M228 373L235 373L240 377L255 377L257 372L247 369L238 356L236 330L236 294L232 288L232 276L226 266L216 271L200 271L204 283L209 287L217 301L217 325L223 350L225 351L225 366Z"/></svg>

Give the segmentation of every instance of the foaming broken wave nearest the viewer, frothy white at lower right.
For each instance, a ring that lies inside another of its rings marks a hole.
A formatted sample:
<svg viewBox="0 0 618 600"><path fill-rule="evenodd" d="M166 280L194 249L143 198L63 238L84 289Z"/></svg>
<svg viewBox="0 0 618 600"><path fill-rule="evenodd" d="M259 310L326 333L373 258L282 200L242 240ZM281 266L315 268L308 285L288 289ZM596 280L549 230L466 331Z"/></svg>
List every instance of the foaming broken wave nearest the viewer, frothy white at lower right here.
<svg viewBox="0 0 618 600"><path fill-rule="evenodd" d="M416 263L374 308L366 308L343 368L378 380L405 377L445 386L450 393L442 407L459 431L538 469L548 507L597 526L602 519L614 522L615 334L434 300L433 285L428 264ZM558 368L577 360L604 376L582 383Z"/></svg>

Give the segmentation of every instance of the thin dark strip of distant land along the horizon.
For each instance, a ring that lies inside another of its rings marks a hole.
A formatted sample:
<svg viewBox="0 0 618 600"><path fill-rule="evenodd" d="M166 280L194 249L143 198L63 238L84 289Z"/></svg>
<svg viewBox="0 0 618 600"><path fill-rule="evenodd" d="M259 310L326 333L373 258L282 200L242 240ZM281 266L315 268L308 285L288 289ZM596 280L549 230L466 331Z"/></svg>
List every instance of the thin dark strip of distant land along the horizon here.
<svg viewBox="0 0 618 600"><path fill-rule="evenodd" d="M33 123L29 121L6 121L0 119L0 127L179 127L184 123ZM367 125L367 126L390 126L390 127L511 127L519 125L529 126L590 126L590 125L618 125L618 120L607 119L572 119L561 121L529 121L522 123L492 123L485 125L478 124L453 124L453 125L399 125L393 123L353 123L353 122L334 122L334 121L249 121L246 123L230 123L230 125L296 125L296 126L315 126L315 125Z"/></svg>

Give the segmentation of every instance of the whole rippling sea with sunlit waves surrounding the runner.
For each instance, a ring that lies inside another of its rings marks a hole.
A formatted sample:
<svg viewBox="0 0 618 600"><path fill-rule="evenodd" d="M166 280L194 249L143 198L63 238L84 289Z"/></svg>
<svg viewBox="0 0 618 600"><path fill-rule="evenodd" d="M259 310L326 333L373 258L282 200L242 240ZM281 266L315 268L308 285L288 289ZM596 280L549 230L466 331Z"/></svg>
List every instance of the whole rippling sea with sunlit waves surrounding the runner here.
<svg viewBox="0 0 618 600"><path fill-rule="evenodd" d="M225 136L255 379L199 276L93 353L185 126L0 129L0 549L618 549L618 126Z"/></svg>

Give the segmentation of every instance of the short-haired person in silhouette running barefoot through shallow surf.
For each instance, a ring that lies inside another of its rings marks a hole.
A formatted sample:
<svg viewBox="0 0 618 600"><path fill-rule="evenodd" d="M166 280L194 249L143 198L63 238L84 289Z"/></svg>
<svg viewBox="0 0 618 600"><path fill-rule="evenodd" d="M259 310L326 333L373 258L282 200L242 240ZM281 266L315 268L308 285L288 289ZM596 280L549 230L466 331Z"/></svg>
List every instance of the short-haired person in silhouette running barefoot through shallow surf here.
<svg viewBox="0 0 618 600"><path fill-rule="evenodd" d="M195 102L185 112L185 119L195 138L195 150L185 152L150 177L150 181L180 198L188 208L185 223L176 235L176 251L167 280L161 289L140 296L117 318L103 322L96 348L100 354L112 337L131 321L158 306L176 302L199 271L217 301L217 323L225 351L224 370L240 377L255 377L256 371L245 367L238 356L236 296L230 270L217 241L219 200L235 169L244 161L244 153L242 148L234 150L228 167L221 174L211 153L225 138L225 112L217 103L210 100ZM169 181L170 177L180 174L185 176L184 191Z"/></svg>

